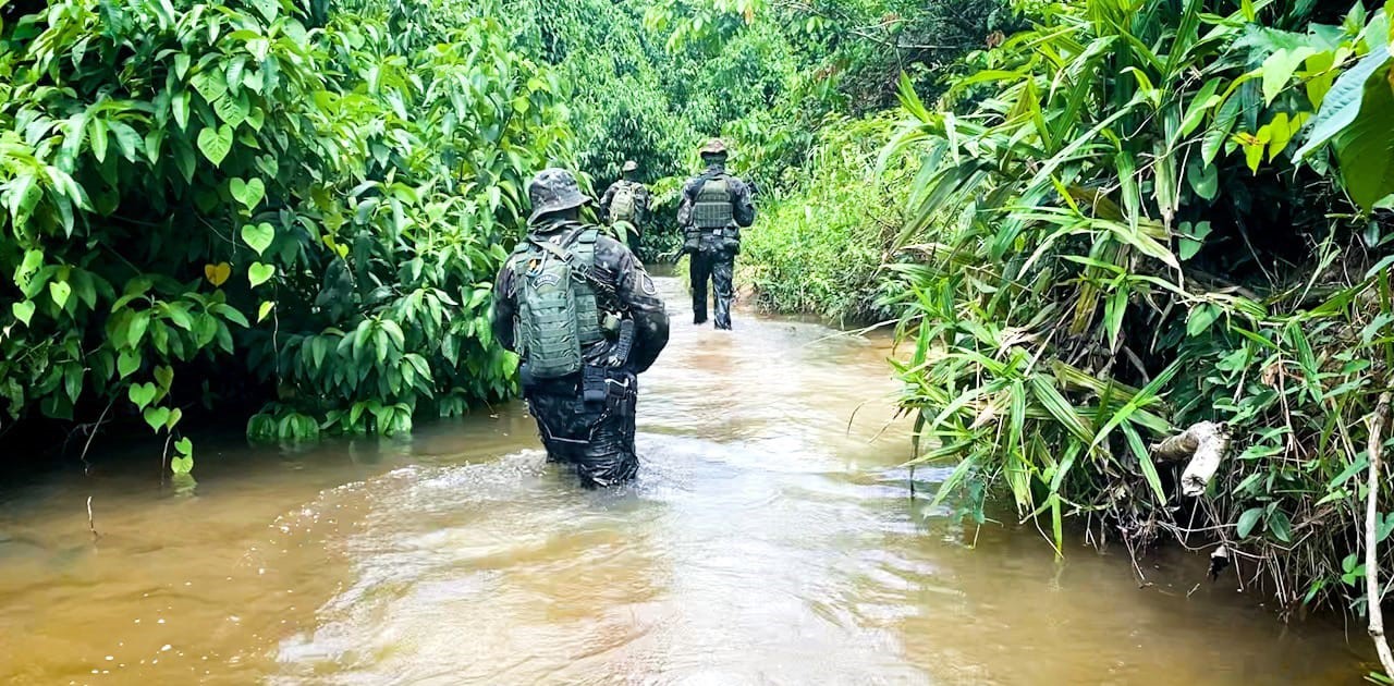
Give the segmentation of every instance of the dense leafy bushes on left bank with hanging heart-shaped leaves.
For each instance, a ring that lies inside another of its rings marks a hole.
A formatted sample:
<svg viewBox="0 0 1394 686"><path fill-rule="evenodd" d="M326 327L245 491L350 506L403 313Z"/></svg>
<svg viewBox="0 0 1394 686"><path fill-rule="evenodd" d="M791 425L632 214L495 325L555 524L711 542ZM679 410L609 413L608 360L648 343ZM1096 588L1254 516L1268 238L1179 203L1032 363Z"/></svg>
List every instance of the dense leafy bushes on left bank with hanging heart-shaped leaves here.
<svg viewBox="0 0 1394 686"><path fill-rule="evenodd" d="M488 284L569 134L493 10L421 4L410 29L374 1L7 18L7 417L177 434L192 406L275 400L251 434L298 438L510 395Z"/></svg>

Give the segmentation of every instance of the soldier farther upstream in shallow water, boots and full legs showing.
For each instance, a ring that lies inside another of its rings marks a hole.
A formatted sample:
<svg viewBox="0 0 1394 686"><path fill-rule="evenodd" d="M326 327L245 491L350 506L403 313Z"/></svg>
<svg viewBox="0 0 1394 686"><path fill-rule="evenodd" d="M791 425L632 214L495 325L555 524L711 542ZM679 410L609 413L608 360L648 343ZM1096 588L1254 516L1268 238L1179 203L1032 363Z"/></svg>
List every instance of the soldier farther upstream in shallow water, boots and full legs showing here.
<svg viewBox="0 0 1394 686"><path fill-rule="evenodd" d="M707 322L707 282L717 291L717 328L730 329L732 279L740 252L740 229L756 222L747 185L726 173L726 144L711 139L701 149L707 170L687 180L677 205L683 252L691 255L693 323Z"/></svg>

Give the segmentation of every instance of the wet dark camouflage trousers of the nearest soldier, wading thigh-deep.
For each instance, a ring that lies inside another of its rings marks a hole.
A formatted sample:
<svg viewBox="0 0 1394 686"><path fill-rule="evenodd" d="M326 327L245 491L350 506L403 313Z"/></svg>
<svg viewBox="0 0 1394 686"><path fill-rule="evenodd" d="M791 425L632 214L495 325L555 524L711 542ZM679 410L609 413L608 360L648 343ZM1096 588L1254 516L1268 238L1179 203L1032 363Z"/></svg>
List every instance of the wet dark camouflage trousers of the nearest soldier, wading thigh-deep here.
<svg viewBox="0 0 1394 686"><path fill-rule="evenodd" d="M620 484L638 473L638 379L623 369L609 369L605 376L602 402L587 403L580 382L569 379L542 382L527 393L548 460L573 468L585 487Z"/></svg>

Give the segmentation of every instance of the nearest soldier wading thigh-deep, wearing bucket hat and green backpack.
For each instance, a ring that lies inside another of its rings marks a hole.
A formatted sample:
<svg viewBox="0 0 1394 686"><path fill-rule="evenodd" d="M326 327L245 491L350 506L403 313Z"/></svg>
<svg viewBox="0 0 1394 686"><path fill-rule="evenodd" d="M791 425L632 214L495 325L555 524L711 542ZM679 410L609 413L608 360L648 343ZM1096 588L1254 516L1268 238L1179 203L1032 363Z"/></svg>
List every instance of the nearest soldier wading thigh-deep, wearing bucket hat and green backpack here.
<svg viewBox="0 0 1394 686"><path fill-rule="evenodd" d="M637 375L668 344L668 314L629 248L580 222L591 199L562 169L528 185L528 234L499 270L493 336L521 358L523 397L548 459L588 487L627 481Z"/></svg>

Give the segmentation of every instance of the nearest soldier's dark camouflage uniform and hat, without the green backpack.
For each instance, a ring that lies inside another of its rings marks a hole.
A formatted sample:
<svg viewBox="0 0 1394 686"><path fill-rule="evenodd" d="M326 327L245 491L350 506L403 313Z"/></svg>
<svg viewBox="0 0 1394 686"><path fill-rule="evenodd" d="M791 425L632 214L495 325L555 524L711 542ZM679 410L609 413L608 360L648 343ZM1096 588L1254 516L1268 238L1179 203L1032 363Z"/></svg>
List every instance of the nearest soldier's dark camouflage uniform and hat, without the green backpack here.
<svg viewBox="0 0 1394 686"><path fill-rule="evenodd" d="M535 208L528 219L528 240L549 240L590 229L576 222L576 209L590 202L565 170L545 170L533 180L528 197ZM634 410L637 375L648 369L668 344L668 314L654 280L633 252L619 241L599 236L592 266L599 310L634 322L627 360L616 360L618 342L605 337L583 350L588 368L604 375L604 402L583 396L583 374L553 379L528 379L523 360L523 396L537 420L548 459L572 466L585 485L613 485L634 477ZM516 318L519 283L505 265L493 291L493 337L517 351Z"/></svg>

